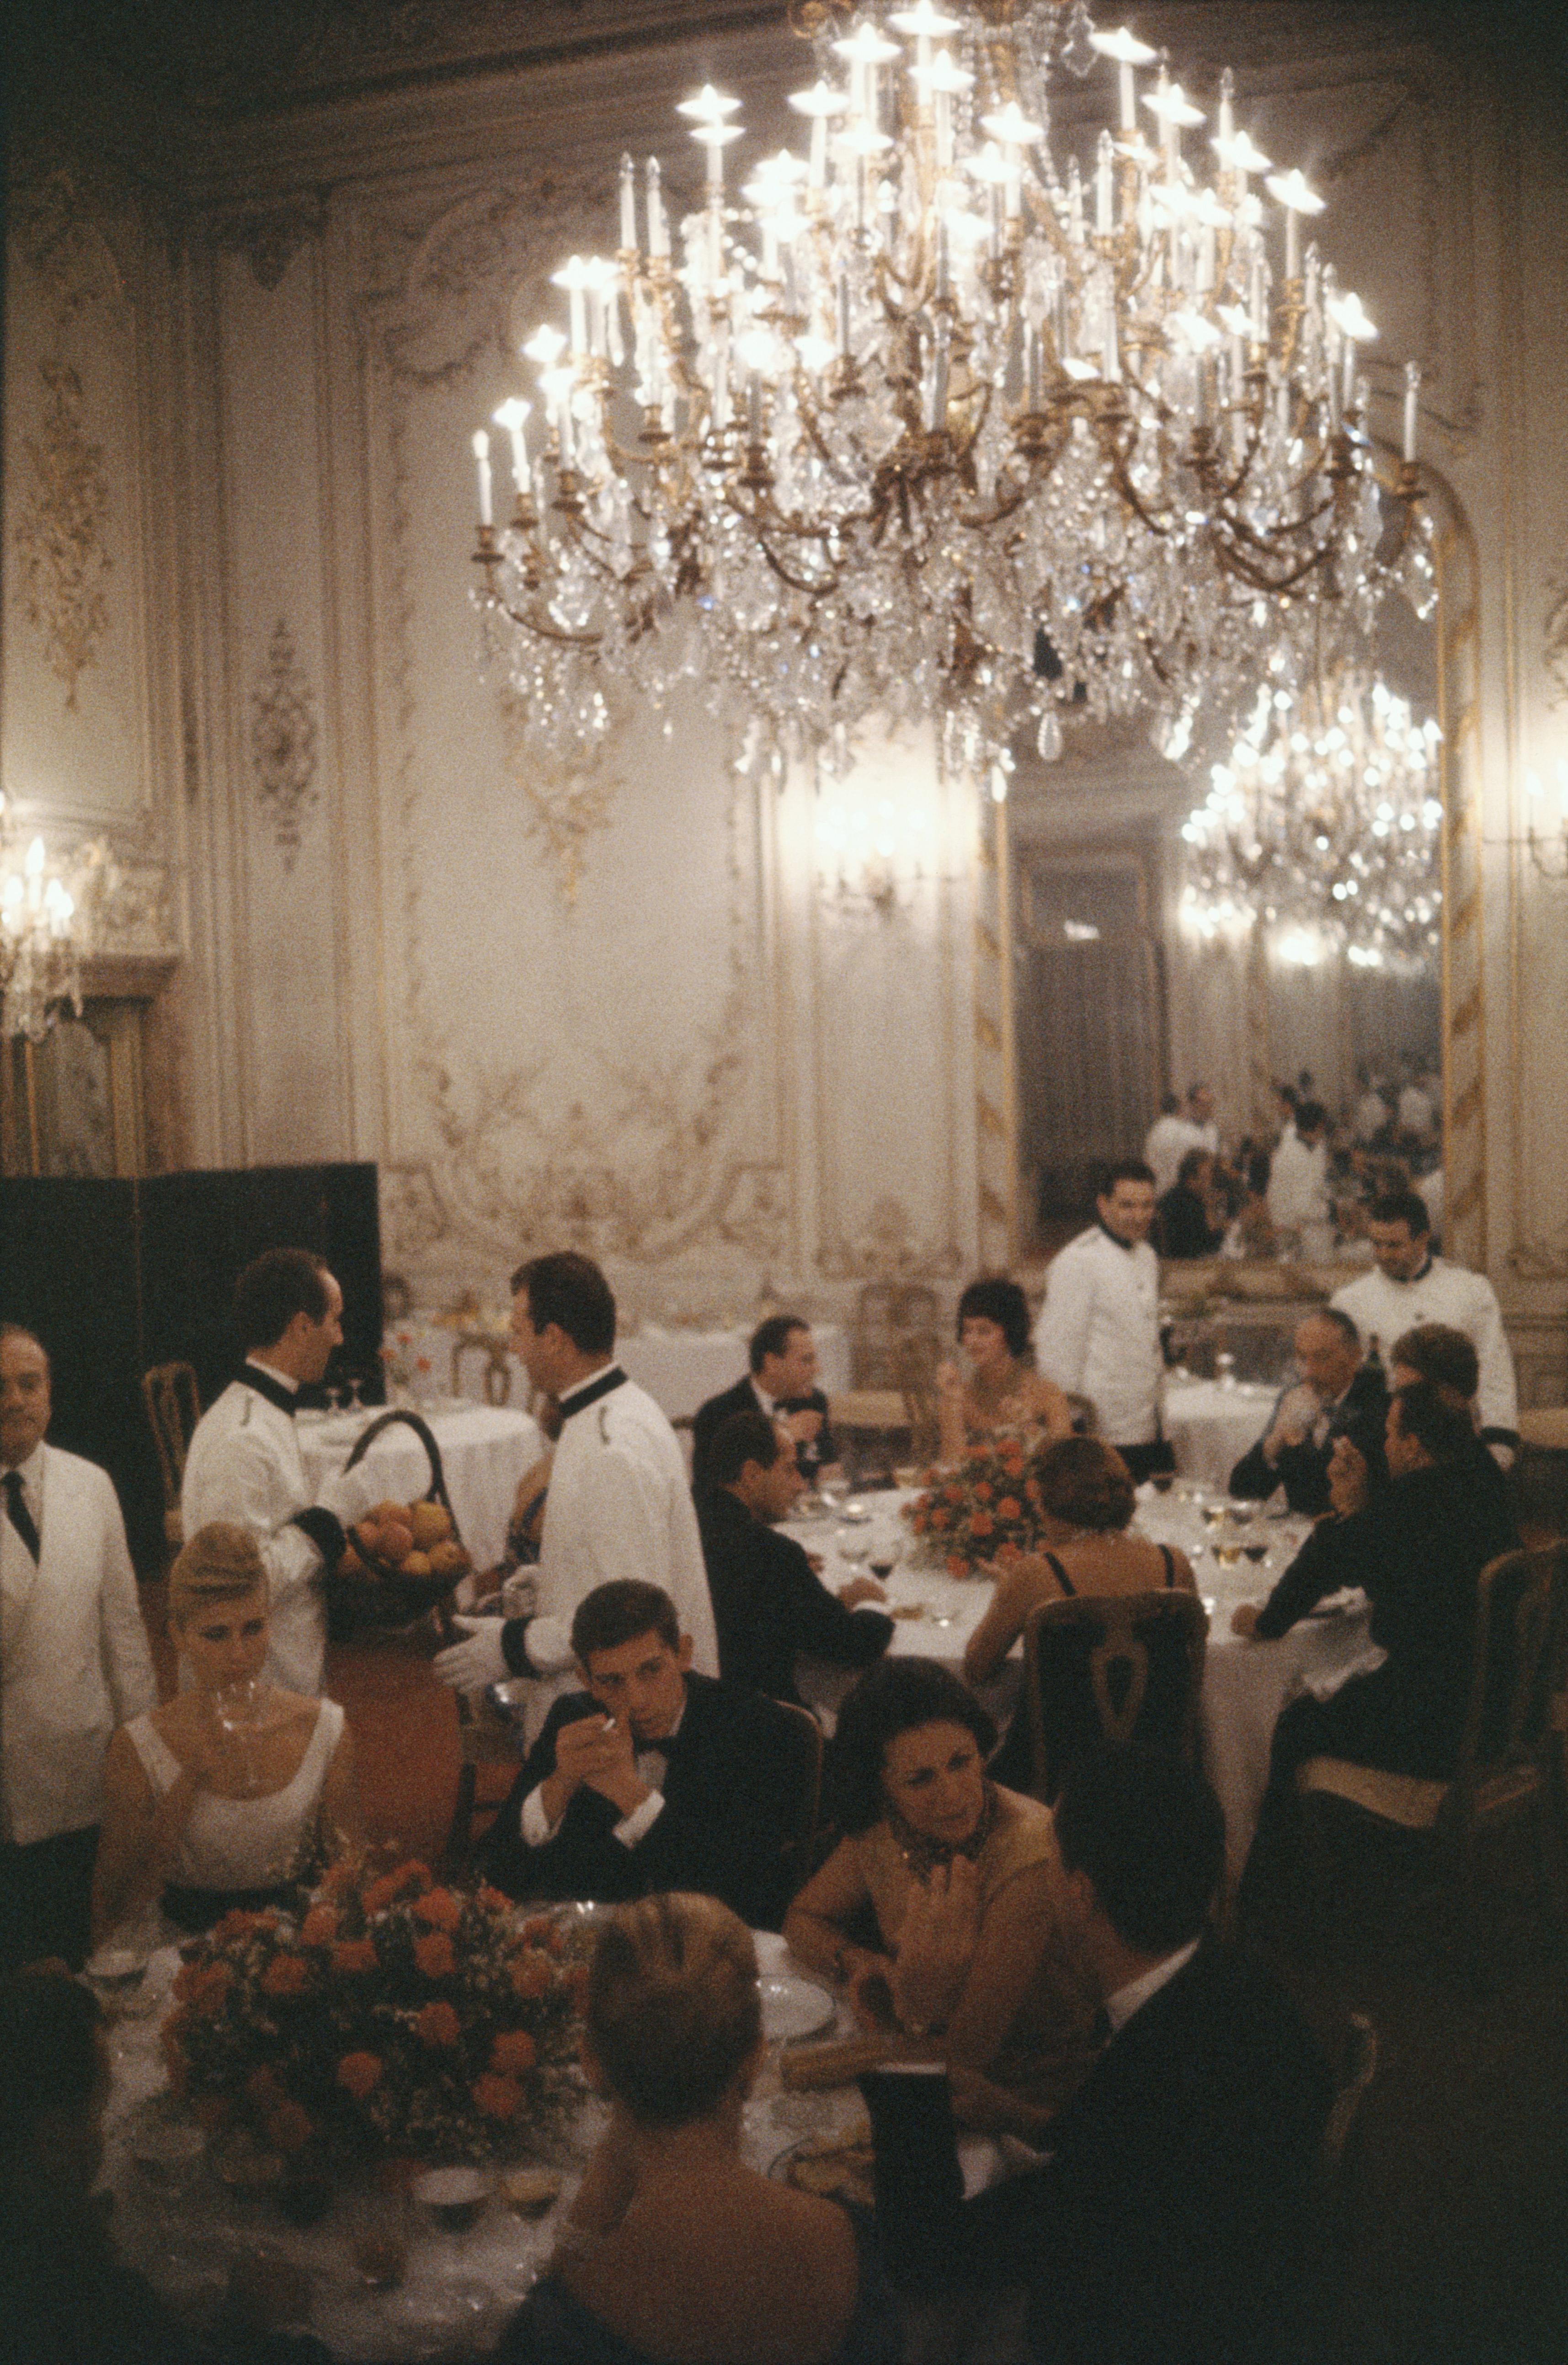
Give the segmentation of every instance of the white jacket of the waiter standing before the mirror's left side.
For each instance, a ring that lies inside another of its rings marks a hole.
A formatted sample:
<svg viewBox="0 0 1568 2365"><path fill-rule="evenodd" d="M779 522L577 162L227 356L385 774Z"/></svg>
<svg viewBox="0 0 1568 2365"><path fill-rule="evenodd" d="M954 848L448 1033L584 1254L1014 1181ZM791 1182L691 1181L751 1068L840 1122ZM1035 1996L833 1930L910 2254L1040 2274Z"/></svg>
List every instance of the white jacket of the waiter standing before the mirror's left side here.
<svg viewBox="0 0 1568 2365"><path fill-rule="evenodd" d="M1095 1223L1052 1258L1034 1329L1036 1362L1069 1395L1088 1395L1107 1445L1159 1436L1159 1258Z"/></svg>

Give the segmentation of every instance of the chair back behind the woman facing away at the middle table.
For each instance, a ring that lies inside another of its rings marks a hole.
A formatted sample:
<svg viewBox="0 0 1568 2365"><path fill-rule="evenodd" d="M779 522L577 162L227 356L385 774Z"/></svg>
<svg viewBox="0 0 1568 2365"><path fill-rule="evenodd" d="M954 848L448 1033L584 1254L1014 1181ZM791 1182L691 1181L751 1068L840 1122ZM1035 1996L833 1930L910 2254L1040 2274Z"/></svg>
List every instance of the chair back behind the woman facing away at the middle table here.
<svg viewBox="0 0 1568 2365"><path fill-rule="evenodd" d="M1209 1620L1197 1594L1041 1601L1024 1627L1031 1790L1055 1800L1078 1757L1140 1741L1192 1757Z"/></svg>

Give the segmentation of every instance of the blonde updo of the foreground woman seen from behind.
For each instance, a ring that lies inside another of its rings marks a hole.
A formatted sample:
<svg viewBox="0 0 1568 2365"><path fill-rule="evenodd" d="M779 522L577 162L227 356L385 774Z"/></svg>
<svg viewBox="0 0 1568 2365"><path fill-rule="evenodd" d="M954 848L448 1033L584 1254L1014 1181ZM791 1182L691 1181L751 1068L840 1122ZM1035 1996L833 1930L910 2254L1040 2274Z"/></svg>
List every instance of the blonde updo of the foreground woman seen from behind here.
<svg viewBox="0 0 1568 2365"><path fill-rule="evenodd" d="M594 1949L584 2022L639 2126L710 2119L762 2041L752 1932L714 1897L617 1906Z"/></svg>

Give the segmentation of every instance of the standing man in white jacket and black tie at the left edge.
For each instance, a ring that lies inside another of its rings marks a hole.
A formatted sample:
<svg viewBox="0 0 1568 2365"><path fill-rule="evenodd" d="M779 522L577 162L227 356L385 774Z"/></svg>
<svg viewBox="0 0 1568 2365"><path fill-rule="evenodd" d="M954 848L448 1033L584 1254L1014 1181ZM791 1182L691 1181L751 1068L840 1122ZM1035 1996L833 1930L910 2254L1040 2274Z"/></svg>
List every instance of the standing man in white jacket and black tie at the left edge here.
<svg viewBox="0 0 1568 2365"><path fill-rule="evenodd" d="M158 1686L106 1471L45 1445L50 1358L0 1327L0 1970L80 1968L116 1724Z"/></svg>

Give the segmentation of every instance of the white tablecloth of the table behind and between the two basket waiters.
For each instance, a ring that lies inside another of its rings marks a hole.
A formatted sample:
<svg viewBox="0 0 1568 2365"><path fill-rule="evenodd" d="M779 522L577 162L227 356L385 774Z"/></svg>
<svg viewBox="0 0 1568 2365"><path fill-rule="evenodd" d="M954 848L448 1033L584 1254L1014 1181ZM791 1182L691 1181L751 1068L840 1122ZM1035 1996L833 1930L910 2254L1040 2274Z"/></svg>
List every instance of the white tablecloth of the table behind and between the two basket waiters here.
<svg viewBox="0 0 1568 2365"><path fill-rule="evenodd" d="M423 1419L440 1445L452 1516L473 1566L494 1568L506 1549L506 1523L518 1478L544 1452L539 1424L532 1414L501 1405L423 1412ZM343 1469L364 1426L364 1412L300 1424L300 1459L312 1488ZM430 1459L402 1421L376 1438L359 1469L374 1499L414 1502L430 1485Z"/></svg>

